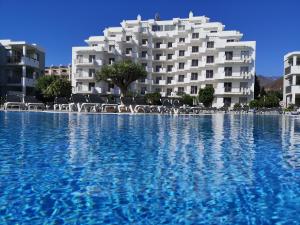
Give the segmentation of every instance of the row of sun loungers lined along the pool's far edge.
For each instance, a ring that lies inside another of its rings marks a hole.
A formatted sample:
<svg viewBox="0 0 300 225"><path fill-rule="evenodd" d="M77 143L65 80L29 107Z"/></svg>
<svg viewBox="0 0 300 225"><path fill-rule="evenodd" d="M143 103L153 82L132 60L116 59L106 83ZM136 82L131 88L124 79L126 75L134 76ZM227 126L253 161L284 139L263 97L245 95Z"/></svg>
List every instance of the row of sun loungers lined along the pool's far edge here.
<svg viewBox="0 0 300 225"><path fill-rule="evenodd" d="M122 103L122 104L121 104ZM49 108L34 96L25 96L24 101L16 95L7 95L4 109L44 110ZM144 97L121 97L120 102L99 94L73 94L70 99L57 97L53 104L54 111L70 112L110 112L110 113L168 113L168 114L199 114L216 111L227 112L228 108L204 108L202 106L187 106L180 99L162 98L159 105L150 105ZM268 113L274 109L251 110L253 113ZM278 111L279 110L275 110ZM248 113L248 110L234 110L236 113ZM282 113L282 110L281 110ZM299 112L297 112L299 114Z"/></svg>

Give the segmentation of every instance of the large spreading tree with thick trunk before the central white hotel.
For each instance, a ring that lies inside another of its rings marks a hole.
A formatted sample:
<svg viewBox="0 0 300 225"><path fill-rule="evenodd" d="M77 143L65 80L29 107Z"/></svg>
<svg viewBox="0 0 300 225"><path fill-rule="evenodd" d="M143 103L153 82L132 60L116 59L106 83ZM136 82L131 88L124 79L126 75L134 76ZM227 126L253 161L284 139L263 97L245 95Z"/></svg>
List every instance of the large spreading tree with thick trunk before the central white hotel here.
<svg viewBox="0 0 300 225"><path fill-rule="evenodd" d="M129 85L138 80L146 78L147 72L144 67L129 60L102 66L96 73L97 81L112 83L120 88L121 97L128 93Z"/></svg>

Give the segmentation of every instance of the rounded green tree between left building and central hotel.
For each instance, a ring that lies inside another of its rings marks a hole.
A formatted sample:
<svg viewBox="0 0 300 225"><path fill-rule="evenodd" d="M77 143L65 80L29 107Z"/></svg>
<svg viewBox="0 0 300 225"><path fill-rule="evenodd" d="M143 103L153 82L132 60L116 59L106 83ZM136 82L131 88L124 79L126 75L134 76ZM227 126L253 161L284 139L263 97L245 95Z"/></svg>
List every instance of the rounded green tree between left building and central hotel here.
<svg viewBox="0 0 300 225"><path fill-rule="evenodd" d="M55 97L70 97L71 82L57 76L39 77L35 86L37 96L43 101L53 101Z"/></svg>

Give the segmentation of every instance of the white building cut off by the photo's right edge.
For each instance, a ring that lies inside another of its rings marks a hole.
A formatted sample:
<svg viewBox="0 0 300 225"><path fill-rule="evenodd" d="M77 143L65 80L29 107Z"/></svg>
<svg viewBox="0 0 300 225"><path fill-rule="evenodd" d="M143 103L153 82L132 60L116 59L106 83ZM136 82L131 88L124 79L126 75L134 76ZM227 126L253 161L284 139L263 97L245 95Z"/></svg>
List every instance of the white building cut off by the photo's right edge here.
<svg viewBox="0 0 300 225"><path fill-rule="evenodd" d="M284 56L283 100L285 107L300 106L300 51Z"/></svg>

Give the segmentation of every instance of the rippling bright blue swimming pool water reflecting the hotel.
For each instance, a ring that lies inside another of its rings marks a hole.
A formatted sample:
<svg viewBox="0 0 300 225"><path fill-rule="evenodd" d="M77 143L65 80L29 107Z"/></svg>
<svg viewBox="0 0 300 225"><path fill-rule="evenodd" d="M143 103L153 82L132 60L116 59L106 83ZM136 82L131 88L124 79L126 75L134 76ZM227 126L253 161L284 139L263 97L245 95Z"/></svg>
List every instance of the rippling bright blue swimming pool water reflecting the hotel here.
<svg viewBox="0 0 300 225"><path fill-rule="evenodd" d="M299 224L300 118L0 112L0 224Z"/></svg>

